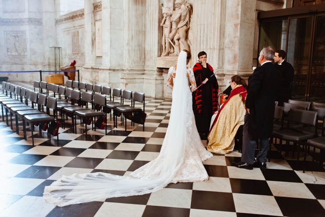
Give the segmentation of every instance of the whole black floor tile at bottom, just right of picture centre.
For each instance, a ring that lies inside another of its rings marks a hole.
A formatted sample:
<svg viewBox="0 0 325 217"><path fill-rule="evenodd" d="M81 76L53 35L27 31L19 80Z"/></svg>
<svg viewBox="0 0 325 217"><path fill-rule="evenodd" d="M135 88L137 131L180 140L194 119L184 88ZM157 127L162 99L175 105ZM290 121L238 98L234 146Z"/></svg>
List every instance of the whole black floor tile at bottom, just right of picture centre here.
<svg viewBox="0 0 325 217"><path fill-rule="evenodd" d="M231 193L192 191L191 209L236 212Z"/></svg>

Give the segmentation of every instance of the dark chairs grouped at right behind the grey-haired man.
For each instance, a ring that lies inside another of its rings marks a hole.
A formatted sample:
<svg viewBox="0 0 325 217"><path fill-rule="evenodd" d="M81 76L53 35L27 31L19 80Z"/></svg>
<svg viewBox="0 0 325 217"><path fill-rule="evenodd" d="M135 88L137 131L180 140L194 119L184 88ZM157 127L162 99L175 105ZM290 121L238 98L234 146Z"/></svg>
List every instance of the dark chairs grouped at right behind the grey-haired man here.
<svg viewBox="0 0 325 217"><path fill-rule="evenodd" d="M273 125L273 133L270 139L270 147L273 143L273 138L280 139L280 153L282 152L282 141L286 141L286 150L285 156L288 154L289 150L289 143L293 143L293 152L292 156L294 157L295 149L297 148L298 156L297 161L299 161L300 157L300 147L303 146L303 150L305 150L305 157L307 146L313 146L313 142L316 139L318 144L316 147L321 147L320 141L323 141L323 147L325 148L325 140L322 140L324 136L324 127L325 127L325 108L324 107L317 107L322 106L321 103L313 103L312 104L312 111L309 111L310 103L302 101L295 101L292 104L292 101L289 103L284 103L283 107L275 107L274 112L274 125ZM318 128L318 122L322 121L322 128ZM315 146L314 146L315 147ZM308 148L309 150L309 148ZM315 152L315 148L314 148ZM323 155L323 154L322 154ZM304 172L305 172L305 157L304 157ZM269 160L270 161L270 157ZM314 155L313 155L314 161ZM321 157L321 164L322 157Z"/></svg>

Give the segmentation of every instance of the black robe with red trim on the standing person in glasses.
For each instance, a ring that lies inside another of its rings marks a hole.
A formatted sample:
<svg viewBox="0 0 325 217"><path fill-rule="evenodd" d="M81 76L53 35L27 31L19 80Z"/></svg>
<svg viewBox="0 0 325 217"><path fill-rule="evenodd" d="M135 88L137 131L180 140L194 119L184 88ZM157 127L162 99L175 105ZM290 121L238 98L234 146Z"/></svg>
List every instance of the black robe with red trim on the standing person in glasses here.
<svg viewBox="0 0 325 217"><path fill-rule="evenodd" d="M213 75L213 68L206 64L206 68L201 63L197 63L193 67L195 81L199 87L205 78L209 80L196 91L193 96L193 112L195 116L196 127L200 133L207 133L210 128L211 117L218 109L218 81ZM211 75L213 75L211 77Z"/></svg>

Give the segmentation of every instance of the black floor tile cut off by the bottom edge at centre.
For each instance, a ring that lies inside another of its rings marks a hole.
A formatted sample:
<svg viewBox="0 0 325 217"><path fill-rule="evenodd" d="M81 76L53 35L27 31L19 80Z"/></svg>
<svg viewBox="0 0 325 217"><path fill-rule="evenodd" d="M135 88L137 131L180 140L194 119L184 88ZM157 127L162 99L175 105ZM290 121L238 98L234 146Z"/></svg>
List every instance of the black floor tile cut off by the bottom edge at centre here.
<svg viewBox="0 0 325 217"><path fill-rule="evenodd" d="M142 217L189 217L190 209L165 207L165 206L146 206Z"/></svg>

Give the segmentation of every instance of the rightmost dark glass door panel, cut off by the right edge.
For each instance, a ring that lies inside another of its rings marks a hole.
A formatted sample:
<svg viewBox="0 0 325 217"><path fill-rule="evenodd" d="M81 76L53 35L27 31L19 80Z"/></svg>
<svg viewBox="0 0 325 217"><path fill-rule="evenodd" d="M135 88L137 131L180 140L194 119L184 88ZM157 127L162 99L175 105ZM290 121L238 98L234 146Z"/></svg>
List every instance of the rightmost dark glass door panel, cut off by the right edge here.
<svg viewBox="0 0 325 217"><path fill-rule="evenodd" d="M325 15L316 16L308 101L325 103Z"/></svg>

